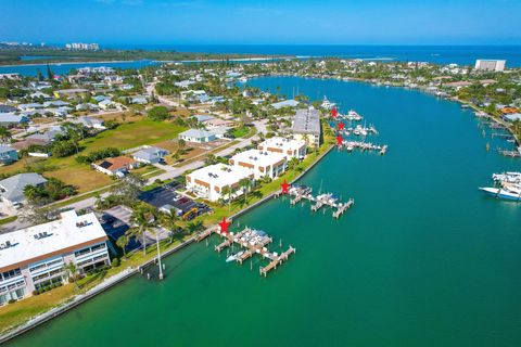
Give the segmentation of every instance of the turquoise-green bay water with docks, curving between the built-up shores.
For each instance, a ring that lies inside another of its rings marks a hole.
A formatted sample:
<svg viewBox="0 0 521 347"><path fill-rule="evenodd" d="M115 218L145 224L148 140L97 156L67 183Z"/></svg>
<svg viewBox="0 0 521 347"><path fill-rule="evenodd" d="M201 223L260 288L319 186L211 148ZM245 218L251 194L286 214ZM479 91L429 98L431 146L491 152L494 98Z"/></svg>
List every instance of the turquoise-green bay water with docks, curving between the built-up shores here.
<svg viewBox="0 0 521 347"><path fill-rule="evenodd" d="M165 281L131 278L9 346L521 345L521 205L476 189L521 162L486 152L471 112L364 83L250 83L374 123L385 156L333 151L302 180L356 205L333 220L271 201L239 220L297 249L267 279L196 244L166 259Z"/></svg>

